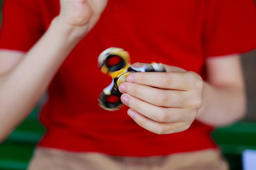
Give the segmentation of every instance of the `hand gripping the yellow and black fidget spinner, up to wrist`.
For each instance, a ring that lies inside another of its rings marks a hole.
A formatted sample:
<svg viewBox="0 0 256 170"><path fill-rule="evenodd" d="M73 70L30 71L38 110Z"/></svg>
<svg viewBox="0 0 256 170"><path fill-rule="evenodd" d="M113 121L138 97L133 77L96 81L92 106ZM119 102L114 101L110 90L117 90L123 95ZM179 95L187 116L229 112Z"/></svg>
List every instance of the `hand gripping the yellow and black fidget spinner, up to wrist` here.
<svg viewBox="0 0 256 170"><path fill-rule="evenodd" d="M120 84L122 102L140 126L157 134L190 127L202 104L203 80L194 72L165 66L166 72L130 74Z"/></svg>

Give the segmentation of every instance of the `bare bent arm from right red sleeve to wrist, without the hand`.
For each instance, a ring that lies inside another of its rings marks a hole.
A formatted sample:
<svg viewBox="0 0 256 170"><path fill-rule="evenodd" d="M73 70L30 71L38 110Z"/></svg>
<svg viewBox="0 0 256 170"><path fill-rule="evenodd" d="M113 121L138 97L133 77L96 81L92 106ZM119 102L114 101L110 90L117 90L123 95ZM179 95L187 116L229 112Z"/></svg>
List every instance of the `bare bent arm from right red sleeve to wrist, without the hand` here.
<svg viewBox="0 0 256 170"><path fill-rule="evenodd" d="M245 84L239 55L210 58L208 82L203 87L203 105L197 119L220 126L234 123L245 115Z"/></svg>

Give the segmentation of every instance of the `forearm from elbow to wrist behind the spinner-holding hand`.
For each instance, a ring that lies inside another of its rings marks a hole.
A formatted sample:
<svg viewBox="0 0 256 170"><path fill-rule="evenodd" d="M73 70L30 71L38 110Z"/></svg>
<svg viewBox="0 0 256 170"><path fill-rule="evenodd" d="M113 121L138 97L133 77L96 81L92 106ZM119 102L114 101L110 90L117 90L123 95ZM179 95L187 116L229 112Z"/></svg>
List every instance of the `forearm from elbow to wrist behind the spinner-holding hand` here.
<svg viewBox="0 0 256 170"><path fill-rule="evenodd" d="M205 82L197 120L213 126L229 125L245 115L245 108L243 86L213 86Z"/></svg>

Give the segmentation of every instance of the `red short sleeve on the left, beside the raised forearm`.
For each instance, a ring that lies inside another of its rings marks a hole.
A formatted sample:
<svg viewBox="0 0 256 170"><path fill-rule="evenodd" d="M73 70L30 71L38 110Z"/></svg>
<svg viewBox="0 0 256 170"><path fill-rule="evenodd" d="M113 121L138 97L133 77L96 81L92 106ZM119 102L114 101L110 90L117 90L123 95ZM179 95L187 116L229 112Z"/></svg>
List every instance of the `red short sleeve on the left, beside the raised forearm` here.
<svg viewBox="0 0 256 170"><path fill-rule="evenodd" d="M43 34L35 0L5 0L0 30L0 48L28 51Z"/></svg>

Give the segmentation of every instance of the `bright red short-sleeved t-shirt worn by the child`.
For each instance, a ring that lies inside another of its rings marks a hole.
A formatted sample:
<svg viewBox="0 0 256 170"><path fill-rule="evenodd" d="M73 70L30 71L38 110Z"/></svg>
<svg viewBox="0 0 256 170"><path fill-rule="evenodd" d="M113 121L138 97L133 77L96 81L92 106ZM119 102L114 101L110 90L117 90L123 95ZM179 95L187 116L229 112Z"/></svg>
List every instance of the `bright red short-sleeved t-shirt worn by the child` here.
<svg viewBox="0 0 256 170"><path fill-rule="evenodd" d="M4 2L4 49L29 50L60 10L59 0ZM41 113L47 132L39 145L126 156L215 148L213 128L197 120L184 132L156 135L134 123L127 107L100 108L98 95L111 79L100 72L97 57L108 47L122 47L132 62L162 62L203 76L206 57L254 49L255 30L253 0L110 0L49 86Z"/></svg>

